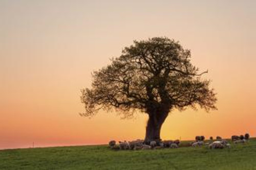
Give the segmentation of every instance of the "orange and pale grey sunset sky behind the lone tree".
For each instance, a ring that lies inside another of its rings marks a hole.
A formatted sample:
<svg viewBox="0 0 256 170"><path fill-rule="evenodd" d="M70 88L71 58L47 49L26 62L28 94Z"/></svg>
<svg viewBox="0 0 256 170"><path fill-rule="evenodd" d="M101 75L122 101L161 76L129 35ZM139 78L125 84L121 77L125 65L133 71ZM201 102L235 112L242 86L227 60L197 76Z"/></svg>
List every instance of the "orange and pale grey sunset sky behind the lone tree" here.
<svg viewBox="0 0 256 170"><path fill-rule="evenodd" d="M0 0L0 149L144 138L147 116L89 119L80 89L133 40L166 36L191 50L217 111L174 110L162 139L256 136L256 1Z"/></svg>

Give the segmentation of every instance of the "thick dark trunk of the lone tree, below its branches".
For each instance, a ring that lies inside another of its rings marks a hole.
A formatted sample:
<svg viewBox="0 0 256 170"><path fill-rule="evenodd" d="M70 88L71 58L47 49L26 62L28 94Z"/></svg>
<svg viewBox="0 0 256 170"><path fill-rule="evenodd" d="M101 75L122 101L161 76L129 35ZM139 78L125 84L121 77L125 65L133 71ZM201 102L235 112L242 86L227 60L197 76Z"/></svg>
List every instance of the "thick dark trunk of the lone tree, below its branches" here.
<svg viewBox="0 0 256 170"><path fill-rule="evenodd" d="M156 142L160 141L160 131L161 127L166 119L168 113L162 114L148 114L148 121L146 126L146 136L144 143L148 144L151 141L155 140Z"/></svg>

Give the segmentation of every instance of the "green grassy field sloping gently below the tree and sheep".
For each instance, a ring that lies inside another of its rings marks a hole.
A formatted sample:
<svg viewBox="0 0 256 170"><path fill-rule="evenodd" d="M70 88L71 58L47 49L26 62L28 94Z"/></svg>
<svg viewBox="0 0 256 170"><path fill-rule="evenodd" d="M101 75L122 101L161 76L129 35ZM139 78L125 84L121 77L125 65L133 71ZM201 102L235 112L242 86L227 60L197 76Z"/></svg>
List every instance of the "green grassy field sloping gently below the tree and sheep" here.
<svg viewBox="0 0 256 170"><path fill-rule="evenodd" d="M106 145L2 150L0 169L256 169L256 139L223 150L113 151Z"/></svg>

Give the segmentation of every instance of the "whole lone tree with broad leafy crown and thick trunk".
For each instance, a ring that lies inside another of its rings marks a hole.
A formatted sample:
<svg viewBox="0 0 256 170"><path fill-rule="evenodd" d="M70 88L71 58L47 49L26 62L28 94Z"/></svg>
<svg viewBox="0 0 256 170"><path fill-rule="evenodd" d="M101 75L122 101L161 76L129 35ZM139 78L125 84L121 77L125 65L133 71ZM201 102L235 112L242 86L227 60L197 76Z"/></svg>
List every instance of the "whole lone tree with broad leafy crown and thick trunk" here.
<svg viewBox="0 0 256 170"><path fill-rule="evenodd" d="M191 64L190 51L175 40L134 41L110 65L93 72L92 87L82 89L82 115L90 117L100 109L115 109L124 117L146 113L145 142L159 140L162 124L175 108L217 109L210 81L201 79L206 72Z"/></svg>

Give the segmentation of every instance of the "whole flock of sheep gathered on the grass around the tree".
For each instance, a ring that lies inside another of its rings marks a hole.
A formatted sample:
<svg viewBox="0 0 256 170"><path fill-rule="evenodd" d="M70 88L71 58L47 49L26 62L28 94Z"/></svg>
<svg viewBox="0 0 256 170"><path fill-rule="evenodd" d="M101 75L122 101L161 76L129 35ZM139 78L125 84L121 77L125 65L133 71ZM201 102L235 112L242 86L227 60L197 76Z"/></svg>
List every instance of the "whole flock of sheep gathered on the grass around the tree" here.
<svg viewBox="0 0 256 170"><path fill-rule="evenodd" d="M231 136L231 141L234 144L245 143L249 140L250 135L246 133L245 135L233 135ZM151 141L150 143L144 143L144 140L137 139L133 141L119 141L119 144L115 140L109 142L109 146L113 150L150 150L150 149L162 149L162 148L179 148L180 140L163 140L163 141ZM202 147L203 145L208 146L209 149L223 149L230 148L230 143L227 140L222 139L220 136L210 137L207 142L205 142L204 136L196 136L196 141L187 143L183 147Z"/></svg>

